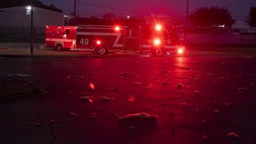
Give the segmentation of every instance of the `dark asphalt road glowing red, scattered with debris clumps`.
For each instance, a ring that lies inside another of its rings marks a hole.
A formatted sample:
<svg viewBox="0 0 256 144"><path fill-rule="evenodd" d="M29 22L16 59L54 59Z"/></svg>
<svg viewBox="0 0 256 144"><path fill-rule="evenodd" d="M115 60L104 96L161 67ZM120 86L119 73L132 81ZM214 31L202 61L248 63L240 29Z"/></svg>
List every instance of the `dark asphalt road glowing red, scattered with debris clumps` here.
<svg viewBox="0 0 256 144"><path fill-rule="evenodd" d="M230 56L2 57L0 143L256 143L255 65ZM121 119L136 113L153 116Z"/></svg>

